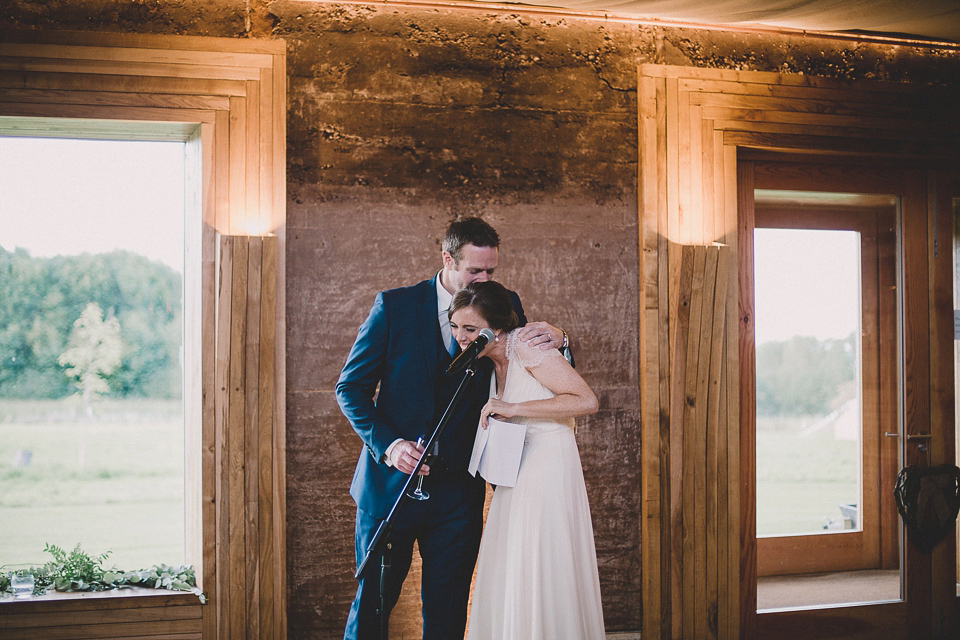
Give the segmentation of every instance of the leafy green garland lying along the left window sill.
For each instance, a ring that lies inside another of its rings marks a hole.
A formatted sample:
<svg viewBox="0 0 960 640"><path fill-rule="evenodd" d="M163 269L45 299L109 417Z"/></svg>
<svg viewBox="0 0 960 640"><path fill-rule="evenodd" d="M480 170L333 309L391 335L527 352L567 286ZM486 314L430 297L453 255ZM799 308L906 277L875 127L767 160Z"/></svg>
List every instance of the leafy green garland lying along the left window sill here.
<svg viewBox="0 0 960 640"><path fill-rule="evenodd" d="M110 553L91 556L80 545L67 553L60 547L47 544L44 551L53 556L53 560L42 567L21 569L19 573L30 573L34 577L34 595L43 595L47 589L61 592L69 591L107 591L123 587L145 587L150 589L169 589L171 591L189 591L196 594L201 602L206 597L197 588L197 576L193 567L155 565L149 569L121 571L104 569ZM15 571L0 572L0 594L13 595L10 578Z"/></svg>

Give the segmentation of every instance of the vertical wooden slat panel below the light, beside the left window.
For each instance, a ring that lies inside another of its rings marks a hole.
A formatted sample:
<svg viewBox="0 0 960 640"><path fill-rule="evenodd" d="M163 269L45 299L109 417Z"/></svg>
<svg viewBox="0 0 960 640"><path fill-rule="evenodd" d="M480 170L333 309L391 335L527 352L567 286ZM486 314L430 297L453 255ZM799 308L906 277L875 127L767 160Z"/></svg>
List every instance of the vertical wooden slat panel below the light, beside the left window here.
<svg viewBox="0 0 960 640"><path fill-rule="evenodd" d="M272 444L277 238L221 236L217 327L218 637L279 638Z"/></svg>

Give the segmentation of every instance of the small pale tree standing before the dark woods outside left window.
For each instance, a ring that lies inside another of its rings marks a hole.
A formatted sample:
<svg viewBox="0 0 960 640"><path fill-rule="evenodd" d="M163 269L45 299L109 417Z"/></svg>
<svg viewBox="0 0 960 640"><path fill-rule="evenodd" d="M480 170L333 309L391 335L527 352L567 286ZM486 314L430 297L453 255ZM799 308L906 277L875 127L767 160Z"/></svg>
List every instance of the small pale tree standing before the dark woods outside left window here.
<svg viewBox="0 0 960 640"><path fill-rule="evenodd" d="M67 375L77 378L88 415L94 397L110 390L104 378L120 366L122 353L120 321L114 316L104 321L100 305L88 303L73 323L67 350L59 359L60 366L67 367Z"/></svg>

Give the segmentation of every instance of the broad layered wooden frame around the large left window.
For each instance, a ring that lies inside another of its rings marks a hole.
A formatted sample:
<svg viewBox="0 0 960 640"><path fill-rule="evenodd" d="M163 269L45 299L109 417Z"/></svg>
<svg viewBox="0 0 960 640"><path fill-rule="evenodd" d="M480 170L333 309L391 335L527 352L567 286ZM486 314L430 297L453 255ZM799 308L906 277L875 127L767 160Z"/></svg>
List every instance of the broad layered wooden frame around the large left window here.
<svg viewBox="0 0 960 640"><path fill-rule="evenodd" d="M281 40L0 31L2 135L186 143L187 560L208 597L2 602L0 635L286 636L285 114Z"/></svg>

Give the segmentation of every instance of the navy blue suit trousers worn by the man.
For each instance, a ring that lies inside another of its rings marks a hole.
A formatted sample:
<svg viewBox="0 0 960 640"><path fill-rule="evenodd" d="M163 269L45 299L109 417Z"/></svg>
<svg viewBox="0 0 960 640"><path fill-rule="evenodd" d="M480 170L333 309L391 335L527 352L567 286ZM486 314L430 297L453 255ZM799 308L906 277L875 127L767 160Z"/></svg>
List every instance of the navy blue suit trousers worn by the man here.
<svg viewBox="0 0 960 640"><path fill-rule="evenodd" d="M387 611L400 597L416 542L422 560L420 597L424 640L463 638L470 583L483 529L484 483L465 471L431 472L424 480L430 498L405 498L390 533ZM380 520L357 509L357 566L363 561ZM378 640L381 557L370 559L350 608L344 640Z"/></svg>

